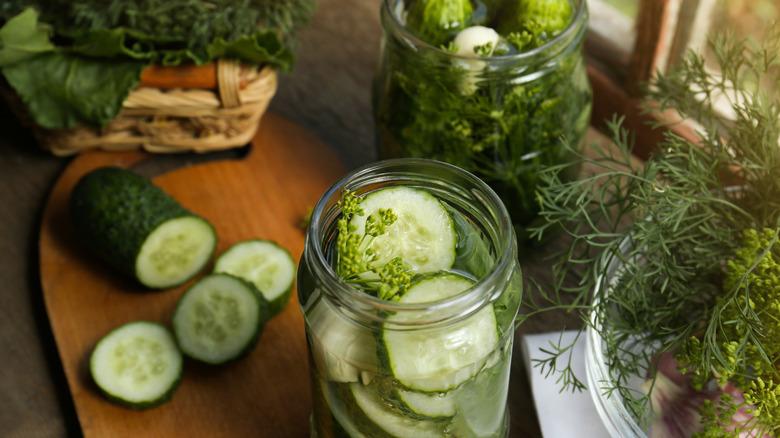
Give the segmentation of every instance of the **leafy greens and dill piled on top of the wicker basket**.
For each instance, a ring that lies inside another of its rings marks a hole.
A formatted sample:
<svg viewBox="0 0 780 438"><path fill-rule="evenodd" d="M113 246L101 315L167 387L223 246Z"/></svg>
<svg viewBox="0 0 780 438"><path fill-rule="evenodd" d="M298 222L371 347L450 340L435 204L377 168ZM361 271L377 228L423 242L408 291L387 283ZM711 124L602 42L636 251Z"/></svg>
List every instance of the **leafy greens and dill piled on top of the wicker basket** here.
<svg viewBox="0 0 780 438"><path fill-rule="evenodd" d="M44 128L102 127L150 64L289 72L315 0L7 0L0 70Z"/></svg>

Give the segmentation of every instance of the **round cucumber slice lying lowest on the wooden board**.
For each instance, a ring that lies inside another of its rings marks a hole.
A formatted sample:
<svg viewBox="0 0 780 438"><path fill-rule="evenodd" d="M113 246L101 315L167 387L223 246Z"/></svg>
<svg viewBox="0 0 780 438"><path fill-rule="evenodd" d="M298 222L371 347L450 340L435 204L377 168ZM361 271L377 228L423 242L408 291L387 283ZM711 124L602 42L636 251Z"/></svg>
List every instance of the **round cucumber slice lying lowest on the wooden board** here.
<svg viewBox="0 0 780 438"><path fill-rule="evenodd" d="M149 409L173 397L182 378L182 355L164 325L134 321L97 343L89 371L108 400L131 409Z"/></svg>

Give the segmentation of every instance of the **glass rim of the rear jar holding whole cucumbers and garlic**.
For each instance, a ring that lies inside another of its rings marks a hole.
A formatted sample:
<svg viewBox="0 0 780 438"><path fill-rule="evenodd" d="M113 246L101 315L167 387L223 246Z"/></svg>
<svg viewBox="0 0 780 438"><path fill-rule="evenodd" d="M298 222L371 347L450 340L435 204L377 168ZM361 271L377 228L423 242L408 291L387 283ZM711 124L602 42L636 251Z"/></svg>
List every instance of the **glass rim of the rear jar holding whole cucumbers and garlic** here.
<svg viewBox="0 0 780 438"><path fill-rule="evenodd" d="M587 1L586 0L575 0L575 4L577 6L576 14L572 17L571 22L568 26L566 26L566 29L563 30L560 34L556 35L554 38L552 38L550 41L547 41L546 43L542 44L541 46L534 47L533 49L522 51L519 53L511 54L511 55L499 55L499 56L470 56L470 55L462 55L457 53L448 52L446 50L442 50L439 47L436 47L434 45L428 44L427 42L421 40L414 34L412 34L407 28L406 25L401 21L401 17L396 14L395 9L396 5L402 0L384 0L383 1L383 8L385 9L385 13L390 16L390 19L392 20L392 23L395 25L396 30L401 34L401 36L404 38L404 40L410 42L416 47L430 50L432 52L439 53L441 55L450 56L452 58L460 58L460 59L480 59L483 61L493 61L493 62L499 62L499 61L522 61L529 58L536 58L540 56L541 54L547 53L549 51L554 51L555 48L559 48L562 50L565 48L568 44L565 42L572 41L575 39L575 37L580 33L584 32L586 26L584 26L582 23L586 21L586 16L588 14L588 8L587 8ZM562 43L563 42L563 43Z"/></svg>

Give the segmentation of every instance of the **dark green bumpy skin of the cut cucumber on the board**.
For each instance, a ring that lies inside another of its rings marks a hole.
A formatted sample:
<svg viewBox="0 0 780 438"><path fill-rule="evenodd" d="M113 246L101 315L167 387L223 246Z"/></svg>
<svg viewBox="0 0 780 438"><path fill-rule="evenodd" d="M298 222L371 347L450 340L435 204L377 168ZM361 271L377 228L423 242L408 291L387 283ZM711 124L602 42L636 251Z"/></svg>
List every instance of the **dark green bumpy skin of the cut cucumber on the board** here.
<svg viewBox="0 0 780 438"><path fill-rule="evenodd" d="M206 222L216 236L206 219L184 208L149 179L120 167L101 167L81 177L71 192L68 209L73 228L86 246L136 279L141 246L162 223L192 216ZM215 251L216 245L212 256Z"/></svg>

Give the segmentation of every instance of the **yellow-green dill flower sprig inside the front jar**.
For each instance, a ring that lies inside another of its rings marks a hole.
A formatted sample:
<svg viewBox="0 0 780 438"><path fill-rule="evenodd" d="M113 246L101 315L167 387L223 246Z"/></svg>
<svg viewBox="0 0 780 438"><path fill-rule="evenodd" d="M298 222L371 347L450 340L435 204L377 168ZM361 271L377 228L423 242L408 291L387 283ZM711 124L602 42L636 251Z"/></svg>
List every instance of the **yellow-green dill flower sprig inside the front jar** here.
<svg viewBox="0 0 780 438"><path fill-rule="evenodd" d="M344 191L339 201L342 216L337 223L336 273L353 287L383 300L400 298L412 278L409 266L400 257L377 265L380 255L371 246L398 217L392 209L380 208L366 218L365 234L358 234L357 227L350 221L354 216L365 216L360 207L362 201L362 197L349 190Z"/></svg>

